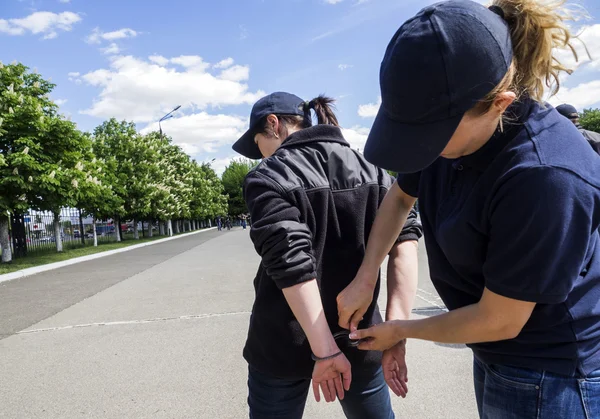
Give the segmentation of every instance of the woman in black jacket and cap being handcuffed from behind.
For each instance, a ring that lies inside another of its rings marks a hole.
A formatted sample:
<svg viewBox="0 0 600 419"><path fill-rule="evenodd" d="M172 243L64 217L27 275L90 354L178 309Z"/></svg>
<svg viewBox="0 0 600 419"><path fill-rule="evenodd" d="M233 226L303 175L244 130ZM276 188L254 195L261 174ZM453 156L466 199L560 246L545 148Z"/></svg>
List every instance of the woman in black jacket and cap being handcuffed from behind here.
<svg viewBox="0 0 600 419"><path fill-rule="evenodd" d="M250 237L262 258L244 348L255 419L301 418L311 378L316 400L320 387L327 402L339 398L348 418L393 418L386 382L399 396L407 391L402 343L383 357L361 352L337 325L336 297L358 271L393 180L350 148L331 103L273 93L254 105L250 129L233 146L264 158L244 183ZM411 311L421 236L416 213L398 233L390 245L388 320ZM362 319L366 327L382 320L378 293L379 280Z"/></svg>

